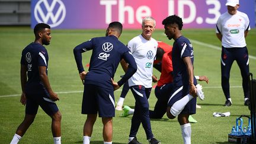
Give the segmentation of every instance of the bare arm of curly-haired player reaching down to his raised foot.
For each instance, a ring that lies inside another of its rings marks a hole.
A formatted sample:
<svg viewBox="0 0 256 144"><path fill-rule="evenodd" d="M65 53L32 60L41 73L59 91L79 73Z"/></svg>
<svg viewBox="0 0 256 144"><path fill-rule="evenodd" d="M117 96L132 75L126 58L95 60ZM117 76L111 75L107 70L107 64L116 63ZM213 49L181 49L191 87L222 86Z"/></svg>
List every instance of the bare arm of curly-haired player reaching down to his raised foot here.
<svg viewBox="0 0 256 144"><path fill-rule="evenodd" d="M196 86L194 85L194 68L193 68L191 59L189 56L187 56L187 57L183 57L183 61L187 67L188 82L190 85L190 95L193 95L193 97L197 97Z"/></svg>

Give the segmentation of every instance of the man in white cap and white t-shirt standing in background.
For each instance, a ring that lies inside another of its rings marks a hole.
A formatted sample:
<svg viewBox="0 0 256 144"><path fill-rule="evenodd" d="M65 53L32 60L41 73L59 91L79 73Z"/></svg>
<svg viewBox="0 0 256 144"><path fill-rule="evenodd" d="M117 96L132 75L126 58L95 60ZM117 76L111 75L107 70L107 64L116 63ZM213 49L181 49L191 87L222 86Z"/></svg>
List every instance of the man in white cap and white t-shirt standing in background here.
<svg viewBox="0 0 256 144"><path fill-rule="evenodd" d="M251 29L249 18L240 12L239 0L227 0L228 11L220 15L216 24L216 36L222 41L221 75L222 89L226 97L224 106L231 106L229 75L233 61L236 60L242 75L244 105L249 105L249 56L245 37Z"/></svg>

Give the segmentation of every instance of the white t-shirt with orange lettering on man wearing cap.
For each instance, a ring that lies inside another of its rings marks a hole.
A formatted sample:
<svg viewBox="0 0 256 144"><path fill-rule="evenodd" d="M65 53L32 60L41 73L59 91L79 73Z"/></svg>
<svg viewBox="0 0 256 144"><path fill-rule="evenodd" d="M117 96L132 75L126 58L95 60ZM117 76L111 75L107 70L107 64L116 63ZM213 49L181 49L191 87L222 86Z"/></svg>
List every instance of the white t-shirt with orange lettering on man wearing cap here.
<svg viewBox="0 0 256 144"><path fill-rule="evenodd" d="M216 33L222 34L222 46L226 48L245 47L244 32L250 29L247 14L240 11L236 11L235 15L225 12L216 24Z"/></svg>

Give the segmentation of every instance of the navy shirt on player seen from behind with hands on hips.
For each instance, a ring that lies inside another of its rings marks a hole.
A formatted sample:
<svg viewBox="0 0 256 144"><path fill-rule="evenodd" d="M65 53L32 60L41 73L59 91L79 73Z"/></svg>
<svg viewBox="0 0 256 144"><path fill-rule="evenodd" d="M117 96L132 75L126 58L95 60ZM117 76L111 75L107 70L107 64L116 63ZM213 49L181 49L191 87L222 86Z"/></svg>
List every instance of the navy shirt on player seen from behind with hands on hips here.
<svg viewBox="0 0 256 144"><path fill-rule="evenodd" d="M84 71L81 53L87 50L92 50L92 55L84 84L113 89L111 78L114 78L121 59L129 63L129 66L126 74L118 82L119 86L123 85L137 70L136 62L129 49L116 36L106 36L95 37L73 49L79 73Z"/></svg>

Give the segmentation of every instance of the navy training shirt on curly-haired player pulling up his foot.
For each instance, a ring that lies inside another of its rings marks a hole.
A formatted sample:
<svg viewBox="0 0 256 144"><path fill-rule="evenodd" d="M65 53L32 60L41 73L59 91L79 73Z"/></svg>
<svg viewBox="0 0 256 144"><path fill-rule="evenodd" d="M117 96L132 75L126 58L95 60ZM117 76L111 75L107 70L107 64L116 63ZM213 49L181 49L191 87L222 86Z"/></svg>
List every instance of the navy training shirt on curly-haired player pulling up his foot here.
<svg viewBox="0 0 256 144"><path fill-rule="evenodd" d="M172 66L174 85L188 85L188 72L187 67L183 61L183 57L189 56L191 63L194 63L194 50L190 41L181 36L174 41L172 47ZM197 84L196 78L194 78L194 84Z"/></svg>

